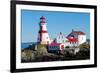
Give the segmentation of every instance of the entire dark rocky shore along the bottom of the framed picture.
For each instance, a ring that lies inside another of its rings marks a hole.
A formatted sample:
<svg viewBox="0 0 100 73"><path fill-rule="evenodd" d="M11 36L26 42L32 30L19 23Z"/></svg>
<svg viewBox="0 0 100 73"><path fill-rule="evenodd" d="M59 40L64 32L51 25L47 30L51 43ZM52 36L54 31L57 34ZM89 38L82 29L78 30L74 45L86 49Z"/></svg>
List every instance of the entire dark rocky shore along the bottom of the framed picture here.
<svg viewBox="0 0 100 73"><path fill-rule="evenodd" d="M38 44L36 47L28 47L26 49L22 49L21 62L48 62L90 59L90 49L81 48L75 54L73 52L73 49L68 48L59 52L48 52L47 49L48 48L46 45L40 44Z"/></svg>

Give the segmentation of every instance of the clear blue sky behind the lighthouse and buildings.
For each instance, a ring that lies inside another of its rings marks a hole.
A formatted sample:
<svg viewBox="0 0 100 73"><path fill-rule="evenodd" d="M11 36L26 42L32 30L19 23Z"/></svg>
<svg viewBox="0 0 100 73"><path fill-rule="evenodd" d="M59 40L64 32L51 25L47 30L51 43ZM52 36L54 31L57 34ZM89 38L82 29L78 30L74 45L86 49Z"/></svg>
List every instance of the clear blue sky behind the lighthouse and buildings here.
<svg viewBox="0 0 100 73"><path fill-rule="evenodd" d="M21 10L22 42L37 42L41 16L46 18L50 38L56 38L60 32L67 36L72 29L82 31L90 38L89 13Z"/></svg>

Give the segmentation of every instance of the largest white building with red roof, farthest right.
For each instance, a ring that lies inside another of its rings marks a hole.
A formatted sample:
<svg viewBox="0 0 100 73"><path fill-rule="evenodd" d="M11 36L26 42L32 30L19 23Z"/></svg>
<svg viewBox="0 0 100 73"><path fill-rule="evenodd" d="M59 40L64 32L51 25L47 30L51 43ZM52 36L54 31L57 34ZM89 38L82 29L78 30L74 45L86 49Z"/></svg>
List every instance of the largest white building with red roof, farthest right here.
<svg viewBox="0 0 100 73"><path fill-rule="evenodd" d="M67 39L69 40L70 44L72 45L80 45L86 42L86 34L82 31L74 31L67 36Z"/></svg>

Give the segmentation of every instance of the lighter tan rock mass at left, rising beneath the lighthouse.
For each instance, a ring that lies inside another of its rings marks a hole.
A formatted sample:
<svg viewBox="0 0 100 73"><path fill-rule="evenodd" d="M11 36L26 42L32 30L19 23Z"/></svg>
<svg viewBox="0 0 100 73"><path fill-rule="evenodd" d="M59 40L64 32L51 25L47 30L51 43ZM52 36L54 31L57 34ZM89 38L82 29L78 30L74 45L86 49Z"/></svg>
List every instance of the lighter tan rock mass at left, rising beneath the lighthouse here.
<svg viewBox="0 0 100 73"><path fill-rule="evenodd" d="M31 49L30 49L31 48ZM37 58L42 58L43 56L48 56L49 53L45 45L37 45L37 49L34 50L36 47L29 47L27 49L23 49L21 52L21 60L22 62L31 62L36 61Z"/></svg>

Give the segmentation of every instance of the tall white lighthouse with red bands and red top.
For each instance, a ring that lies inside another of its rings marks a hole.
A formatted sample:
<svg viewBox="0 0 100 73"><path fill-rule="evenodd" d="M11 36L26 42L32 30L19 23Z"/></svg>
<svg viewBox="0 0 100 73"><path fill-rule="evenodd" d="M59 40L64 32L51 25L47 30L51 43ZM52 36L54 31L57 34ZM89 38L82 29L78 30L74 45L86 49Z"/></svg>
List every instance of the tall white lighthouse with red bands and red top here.
<svg viewBox="0 0 100 73"><path fill-rule="evenodd" d="M46 18L44 16L40 17L39 22L39 43L40 44L49 44L50 38L46 27Z"/></svg>

